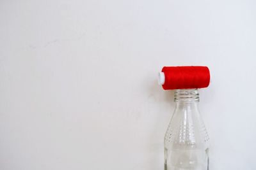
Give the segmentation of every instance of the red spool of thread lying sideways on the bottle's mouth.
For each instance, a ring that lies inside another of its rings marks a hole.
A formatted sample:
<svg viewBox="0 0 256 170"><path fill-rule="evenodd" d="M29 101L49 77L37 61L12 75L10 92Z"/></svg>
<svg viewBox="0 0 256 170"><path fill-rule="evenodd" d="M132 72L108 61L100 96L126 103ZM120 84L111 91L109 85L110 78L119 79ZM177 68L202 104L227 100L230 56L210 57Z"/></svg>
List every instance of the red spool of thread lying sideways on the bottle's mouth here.
<svg viewBox="0 0 256 170"><path fill-rule="evenodd" d="M210 71L205 66L163 67L158 83L164 90L204 88L209 86Z"/></svg>

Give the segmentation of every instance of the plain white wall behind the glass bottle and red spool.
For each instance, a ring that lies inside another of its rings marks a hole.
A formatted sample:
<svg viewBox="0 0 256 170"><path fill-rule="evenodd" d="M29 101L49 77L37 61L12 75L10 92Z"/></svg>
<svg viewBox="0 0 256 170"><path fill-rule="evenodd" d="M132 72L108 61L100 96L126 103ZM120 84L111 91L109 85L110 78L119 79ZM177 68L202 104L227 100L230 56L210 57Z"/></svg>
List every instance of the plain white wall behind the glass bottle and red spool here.
<svg viewBox="0 0 256 170"><path fill-rule="evenodd" d="M209 66L211 170L256 169L255 1L0 1L0 169L163 169L162 66Z"/></svg>

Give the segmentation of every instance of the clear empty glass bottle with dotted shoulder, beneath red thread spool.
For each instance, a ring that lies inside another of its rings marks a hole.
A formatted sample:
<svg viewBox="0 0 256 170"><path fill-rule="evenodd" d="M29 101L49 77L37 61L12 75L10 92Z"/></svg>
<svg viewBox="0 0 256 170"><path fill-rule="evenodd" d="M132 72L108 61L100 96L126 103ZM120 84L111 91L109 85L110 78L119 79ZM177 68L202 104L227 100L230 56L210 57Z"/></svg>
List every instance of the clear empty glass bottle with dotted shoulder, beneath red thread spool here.
<svg viewBox="0 0 256 170"><path fill-rule="evenodd" d="M198 110L198 90L176 90L175 102L164 136L164 170L209 170L209 137Z"/></svg>

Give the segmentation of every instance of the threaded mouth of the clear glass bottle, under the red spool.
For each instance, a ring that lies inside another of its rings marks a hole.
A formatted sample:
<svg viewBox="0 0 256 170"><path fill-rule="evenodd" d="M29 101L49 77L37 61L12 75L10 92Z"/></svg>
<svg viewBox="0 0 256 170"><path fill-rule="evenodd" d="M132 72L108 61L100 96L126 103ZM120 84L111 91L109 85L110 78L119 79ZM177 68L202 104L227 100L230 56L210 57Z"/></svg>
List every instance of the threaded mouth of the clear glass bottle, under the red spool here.
<svg viewBox="0 0 256 170"><path fill-rule="evenodd" d="M177 89L174 94L174 101L199 101L197 89Z"/></svg>

